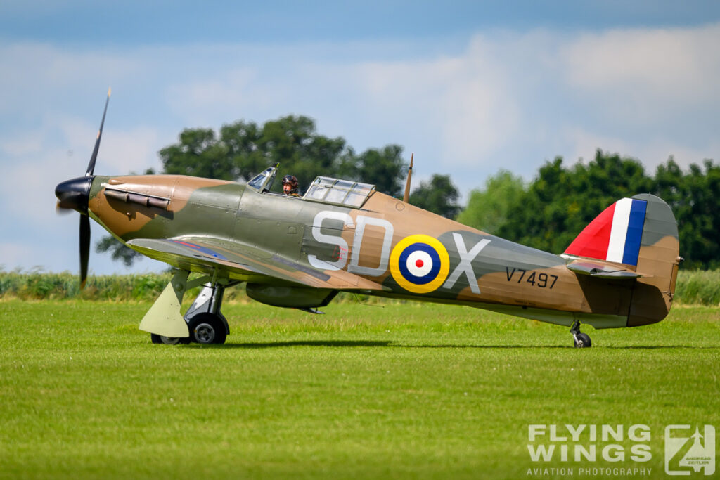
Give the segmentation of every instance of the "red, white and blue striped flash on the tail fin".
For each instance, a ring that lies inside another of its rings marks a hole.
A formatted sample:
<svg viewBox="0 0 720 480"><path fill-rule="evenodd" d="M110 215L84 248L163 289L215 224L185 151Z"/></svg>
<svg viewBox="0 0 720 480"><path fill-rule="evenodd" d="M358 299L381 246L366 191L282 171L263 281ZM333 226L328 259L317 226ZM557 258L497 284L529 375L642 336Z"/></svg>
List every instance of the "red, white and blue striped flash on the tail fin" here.
<svg viewBox="0 0 720 480"><path fill-rule="evenodd" d="M637 266L646 210L644 200L616 201L577 235L565 253Z"/></svg>

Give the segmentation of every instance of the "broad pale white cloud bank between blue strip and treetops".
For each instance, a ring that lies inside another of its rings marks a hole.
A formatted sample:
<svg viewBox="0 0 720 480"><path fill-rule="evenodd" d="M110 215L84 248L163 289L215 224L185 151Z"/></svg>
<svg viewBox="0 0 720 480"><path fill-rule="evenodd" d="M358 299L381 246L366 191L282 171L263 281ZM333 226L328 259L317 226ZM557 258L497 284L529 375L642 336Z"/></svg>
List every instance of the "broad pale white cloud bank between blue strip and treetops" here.
<svg viewBox="0 0 720 480"><path fill-rule="evenodd" d="M183 127L292 113L356 150L404 145L418 179L449 173L469 191L499 168L531 178L544 160L587 161L596 148L639 158L648 171L669 155L683 166L720 159L717 45L720 24L483 32L461 48L429 49L0 45L0 89L12 92L0 96L2 240L24 245L48 225L76 243L76 222L55 218L53 191L84 173L108 85L98 173L157 166Z"/></svg>

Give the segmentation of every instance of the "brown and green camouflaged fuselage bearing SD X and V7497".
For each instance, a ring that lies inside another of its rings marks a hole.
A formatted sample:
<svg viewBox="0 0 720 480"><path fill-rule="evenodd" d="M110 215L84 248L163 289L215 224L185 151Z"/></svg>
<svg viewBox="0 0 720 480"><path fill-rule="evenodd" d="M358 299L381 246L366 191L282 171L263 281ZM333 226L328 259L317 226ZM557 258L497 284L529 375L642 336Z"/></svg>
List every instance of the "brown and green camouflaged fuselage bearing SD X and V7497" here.
<svg viewBox="0 0 720 480"><path fill-rule="evenodd" d="M628 325L629 282L578 276L559 255L489 235L378 191L360 207L348 207L230 181L96 176L88 209L123 242L213 237L228 248L247 245L314 270L346 271L358 279L355 288L346 290L460 303L560 325L575 319L595 327ZM223 274L265 281L243 271Z"/></svg>

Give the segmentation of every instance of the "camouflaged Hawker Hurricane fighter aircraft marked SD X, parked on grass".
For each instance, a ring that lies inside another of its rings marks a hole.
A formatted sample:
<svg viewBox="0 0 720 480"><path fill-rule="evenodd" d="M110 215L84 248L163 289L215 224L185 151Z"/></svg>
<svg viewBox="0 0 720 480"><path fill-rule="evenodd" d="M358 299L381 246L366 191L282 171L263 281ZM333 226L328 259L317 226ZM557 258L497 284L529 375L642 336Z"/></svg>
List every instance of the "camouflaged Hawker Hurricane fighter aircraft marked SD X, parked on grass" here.
<svg viewBox="0 0 720 480"><path fill-rule="evenodd" d="M107 112L107 102L105 104ZM85 176L57 186L80 212L81 282L89 218L128 247L174 267L142 322L153 343L223 343L226 288L276 307L318 312L339 291L489 309L570 327L660 322L672 305L678 227L664 201L620 199L562 255L413 207L373 185L318 176L302 197L270 191L271 166L247 183L177 175L99 176L102 125ZM199 278L189 281L189 274ZM182 313L184 292L203 285Z"/></svg>

